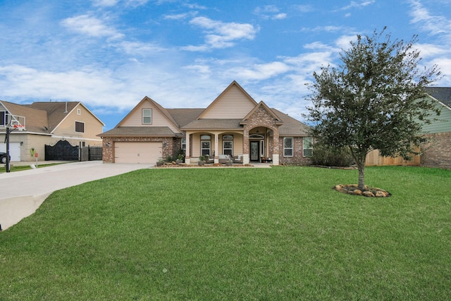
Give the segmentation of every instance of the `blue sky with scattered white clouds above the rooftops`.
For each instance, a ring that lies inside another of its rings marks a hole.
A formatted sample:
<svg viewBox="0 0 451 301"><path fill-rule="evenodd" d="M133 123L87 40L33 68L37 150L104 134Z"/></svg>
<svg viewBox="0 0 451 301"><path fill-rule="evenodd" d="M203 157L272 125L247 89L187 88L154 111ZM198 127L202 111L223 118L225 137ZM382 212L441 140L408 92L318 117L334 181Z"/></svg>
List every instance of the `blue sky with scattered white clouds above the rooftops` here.
<svg viewBox="0 0 451 301"><path fill-rule="evenodd" d="M0 0L0 99L82 102L114 128L145 96L206 108L236 80L302 121L307 85L357 35L418 35L451 87L449 0Z"/></svg>

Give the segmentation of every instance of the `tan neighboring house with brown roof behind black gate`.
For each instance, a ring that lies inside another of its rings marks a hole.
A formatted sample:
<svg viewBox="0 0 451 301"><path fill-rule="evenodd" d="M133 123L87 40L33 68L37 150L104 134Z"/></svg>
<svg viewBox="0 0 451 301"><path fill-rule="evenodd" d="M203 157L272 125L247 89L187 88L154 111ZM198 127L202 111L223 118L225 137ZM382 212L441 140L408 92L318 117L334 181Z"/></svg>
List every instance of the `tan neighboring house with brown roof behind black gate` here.
<svg viewBox="0 0 451 301"><path fill-rule="evenodd" d="M44 145L56 145L58 141L73 146L100 145L97 137L104 123L81 102L34 102L13 104L0 101L0 116L5 113L22 116L25 130L13 130L10 140L11 161L34 161L35 154L44 160ZM4 118L0 118L4 121ZM3 122L4 123L4 122ZM0 127L0 152L5 152L6 129Z"/></svg>

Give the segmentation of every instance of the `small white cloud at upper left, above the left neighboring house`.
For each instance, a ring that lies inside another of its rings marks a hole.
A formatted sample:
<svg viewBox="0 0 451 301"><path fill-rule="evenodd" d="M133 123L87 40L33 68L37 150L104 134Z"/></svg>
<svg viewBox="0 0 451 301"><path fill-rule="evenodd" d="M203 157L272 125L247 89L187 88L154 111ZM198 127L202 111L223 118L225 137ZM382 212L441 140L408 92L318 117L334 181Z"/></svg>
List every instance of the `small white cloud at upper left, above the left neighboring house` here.
<svg viewBox="0 0 451 301"><path fill-rule="evenodd" d="M73 32L89 35L91 37L109 37L112 39L120 39L123 37L123 34L117 32L113 27L104 25L102 20L89 15L66 18L61 21L61 24Z"/></svg>

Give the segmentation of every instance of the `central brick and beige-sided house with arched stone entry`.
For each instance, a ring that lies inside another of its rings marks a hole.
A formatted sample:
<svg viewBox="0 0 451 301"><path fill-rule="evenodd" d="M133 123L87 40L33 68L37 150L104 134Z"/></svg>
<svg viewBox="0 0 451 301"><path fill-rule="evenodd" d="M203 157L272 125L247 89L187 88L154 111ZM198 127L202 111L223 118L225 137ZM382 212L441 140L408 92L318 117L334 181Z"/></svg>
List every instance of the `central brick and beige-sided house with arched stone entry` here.
<svg viewBox="0 0 451 301"><path fill-rule="evenodd" d="M104 163L155 163L185 152L194 164L201 155L234 156L243 164L309 164L309 127L257 103L233 81L206 109L166 109L144 97L115 128L101 133Z"/></svg>

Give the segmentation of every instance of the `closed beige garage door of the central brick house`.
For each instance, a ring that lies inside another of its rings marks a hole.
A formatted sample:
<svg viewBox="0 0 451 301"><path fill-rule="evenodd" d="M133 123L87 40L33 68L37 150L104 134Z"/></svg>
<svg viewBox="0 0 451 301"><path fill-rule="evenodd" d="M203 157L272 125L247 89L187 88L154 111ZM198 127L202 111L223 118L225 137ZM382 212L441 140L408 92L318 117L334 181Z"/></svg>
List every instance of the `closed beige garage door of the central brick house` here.
<svg viewBox="0 0 451 301"><path fill-rule="evenodd" d="M114 161L116 163L152 163L161 157L161 142L116 142Z"/></svg>

